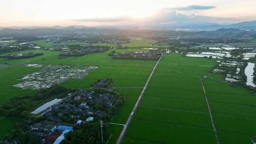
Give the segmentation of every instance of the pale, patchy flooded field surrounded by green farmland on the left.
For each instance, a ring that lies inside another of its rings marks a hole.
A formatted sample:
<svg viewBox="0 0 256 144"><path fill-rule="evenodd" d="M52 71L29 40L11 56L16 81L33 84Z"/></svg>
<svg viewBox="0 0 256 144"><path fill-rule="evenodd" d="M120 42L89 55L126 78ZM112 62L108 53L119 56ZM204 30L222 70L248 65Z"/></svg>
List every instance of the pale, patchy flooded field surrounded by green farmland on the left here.
<svg viewBox="0 0 256 144"><path fill-rule="evenodd" d="M23 76L23 82L14 85L23 89L45 89L64 82L70 78L82 79L89 72L97 69L96 66L73 66L73 65L42 65L27 64L29 67L40 67L41 71Z"/></svg>

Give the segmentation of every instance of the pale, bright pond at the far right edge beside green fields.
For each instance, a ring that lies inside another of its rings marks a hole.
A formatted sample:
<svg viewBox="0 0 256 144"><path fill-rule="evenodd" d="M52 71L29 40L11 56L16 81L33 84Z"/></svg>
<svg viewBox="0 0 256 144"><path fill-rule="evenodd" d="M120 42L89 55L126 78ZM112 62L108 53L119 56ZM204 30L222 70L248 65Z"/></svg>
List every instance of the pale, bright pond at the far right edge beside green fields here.
<svg viewBox="0 0 256 144"><path fill-rule="evenodd" d="M256 85L253 82L254 67L255 67L255 63L248 63L247 67L245 68L245 74L247 76L247 82L246 82L247 86L256 87Z"/></svg>

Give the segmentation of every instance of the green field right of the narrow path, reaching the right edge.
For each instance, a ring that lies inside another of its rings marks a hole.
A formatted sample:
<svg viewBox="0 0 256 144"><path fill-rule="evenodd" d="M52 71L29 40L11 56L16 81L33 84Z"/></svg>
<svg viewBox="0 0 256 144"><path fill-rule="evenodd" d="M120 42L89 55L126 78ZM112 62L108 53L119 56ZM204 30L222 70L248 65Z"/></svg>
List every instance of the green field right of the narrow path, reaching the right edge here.
<svg viewBox="0 0 256 144"><path fill-rule="evenodd" d="M256 135L256 94L225 82L204 79L221 144L251 144Z"/></svg>

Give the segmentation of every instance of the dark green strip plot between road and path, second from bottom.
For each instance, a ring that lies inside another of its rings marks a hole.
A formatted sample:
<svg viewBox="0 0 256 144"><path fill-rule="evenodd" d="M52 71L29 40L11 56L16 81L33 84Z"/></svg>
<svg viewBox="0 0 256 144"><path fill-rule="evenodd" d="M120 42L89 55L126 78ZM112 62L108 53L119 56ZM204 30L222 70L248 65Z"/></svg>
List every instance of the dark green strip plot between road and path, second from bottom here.
<svg viewBox="0 0 256 144"><path fill-rule="evenodd" d="M134 119L211 129L210 115L202 112L179 109L139 106Z"/></svg>

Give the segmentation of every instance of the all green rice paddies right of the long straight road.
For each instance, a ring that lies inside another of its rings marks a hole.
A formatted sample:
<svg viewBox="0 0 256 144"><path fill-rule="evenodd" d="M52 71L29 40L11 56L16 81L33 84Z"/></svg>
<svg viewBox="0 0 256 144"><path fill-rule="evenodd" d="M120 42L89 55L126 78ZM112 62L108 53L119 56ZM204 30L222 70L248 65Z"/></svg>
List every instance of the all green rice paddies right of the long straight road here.
<svg viewBox="0 0 256 144"><path fill-rule="evenodd" d="M215 60L164 54L133 117L123 144L217 144L200 76ZM256 95L203 79L220 144L251 144Z"/></svg>

